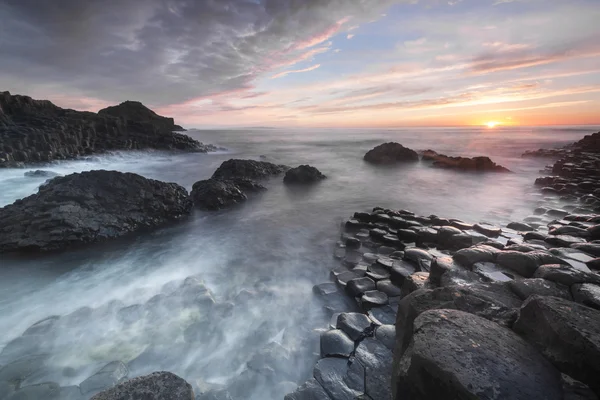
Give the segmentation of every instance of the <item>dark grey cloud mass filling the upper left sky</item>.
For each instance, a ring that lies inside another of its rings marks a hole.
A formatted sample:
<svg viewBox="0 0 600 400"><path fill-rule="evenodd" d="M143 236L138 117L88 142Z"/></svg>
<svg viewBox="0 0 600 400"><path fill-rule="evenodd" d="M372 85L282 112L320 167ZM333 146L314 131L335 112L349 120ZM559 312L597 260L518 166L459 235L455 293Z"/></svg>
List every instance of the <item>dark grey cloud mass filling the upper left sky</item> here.
<svg viewBox="0 0 600 400"><path fill-rule="evenodd" d="M396 1L0 0L0 87L154 105L245 90Z"/></svg>

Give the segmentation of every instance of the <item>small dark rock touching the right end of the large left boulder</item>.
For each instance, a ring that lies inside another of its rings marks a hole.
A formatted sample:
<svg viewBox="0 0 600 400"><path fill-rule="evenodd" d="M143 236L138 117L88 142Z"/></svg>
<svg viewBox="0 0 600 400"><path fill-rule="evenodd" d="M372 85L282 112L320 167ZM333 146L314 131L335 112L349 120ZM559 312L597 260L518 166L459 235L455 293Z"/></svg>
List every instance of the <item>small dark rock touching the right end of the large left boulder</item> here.
<svg viewBox="0 0 600 400"><path fill-rule="evenodd" d="M190 197L197 208L205 211L229 208L248 199L233 181L216 179L194 183Z"/></svg>

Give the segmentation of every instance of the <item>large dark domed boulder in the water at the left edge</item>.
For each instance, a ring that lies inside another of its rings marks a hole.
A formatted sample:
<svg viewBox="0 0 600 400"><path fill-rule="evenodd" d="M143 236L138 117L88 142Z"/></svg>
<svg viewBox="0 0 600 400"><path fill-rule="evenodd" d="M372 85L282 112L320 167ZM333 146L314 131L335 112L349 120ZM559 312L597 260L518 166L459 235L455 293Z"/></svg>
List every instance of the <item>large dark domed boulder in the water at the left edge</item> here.
<svg viewBox="0 0 600 400"><path fill-rule="evenodd" d="M101 242L177 221L191 209L175 183L117 171L71 174L0 209L0 252Z"/></svg>

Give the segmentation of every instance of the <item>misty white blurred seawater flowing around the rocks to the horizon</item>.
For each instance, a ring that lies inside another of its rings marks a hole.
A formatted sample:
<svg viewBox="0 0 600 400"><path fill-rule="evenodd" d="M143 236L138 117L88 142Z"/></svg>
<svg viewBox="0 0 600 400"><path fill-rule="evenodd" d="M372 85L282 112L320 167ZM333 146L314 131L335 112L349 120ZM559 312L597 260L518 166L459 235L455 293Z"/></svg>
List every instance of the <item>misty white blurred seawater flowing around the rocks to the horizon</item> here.
<svg viewBox="0 0 600 400"><path fill-rule="evenodd" d="M312 294L328 281L340 223L374 206L495 224L520 220L539 199L533 181L548 160L525 150L564 145L591 128L190 131L227 151L211 154L122 152L45 169L135 172L188 190L229 158L313 165L329 179L268 191L222 212L115 243L35 258L0 260L0 348L36 321L61 316L32 353L50 367L24 384L77 385L110 361L129 376L169 370L198 391L227 387L234 398L281 399L310 377L319 329L330 316ZM426 163L381 168L362 156L397 141L448 155L488 155L513 174L457 173ZM36 192L44 178L0 170L0 206ZM188 278L187 283L183 281ZM202 283L206 291L200 291ZM190 287L193 290L188 290ZM190 295L192 293L192 295ZM193 298L189 298L189 296ZM214 301L213 301L214 300ZM135 306L140 305L140 306ZM135 307L129 307L135 306ZM89 308L88 308L89 307ZM129 307L129 308L126 308ZM126 310L120 311L122 309ZM0 365L11 353L0 354ZM267 362L263 361L267 359ZM257 379L254 372L259 371ZM264 365L275 370L261 370ZM278 384L279 383L279 384Z"/></svg>

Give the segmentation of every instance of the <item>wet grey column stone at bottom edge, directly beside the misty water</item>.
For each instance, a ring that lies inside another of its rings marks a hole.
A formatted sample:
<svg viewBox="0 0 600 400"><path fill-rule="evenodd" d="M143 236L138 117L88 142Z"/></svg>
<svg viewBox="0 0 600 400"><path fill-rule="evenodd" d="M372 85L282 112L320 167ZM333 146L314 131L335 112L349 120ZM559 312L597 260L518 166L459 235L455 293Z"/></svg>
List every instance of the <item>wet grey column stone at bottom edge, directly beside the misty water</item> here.
<svg viewBox="0 0 600 400"><path fill-rule="evenodd" d="M354 400L365 391L364 368L359 362L345 358L322 358L313 376L325 392L335 400Z"/></svg>

